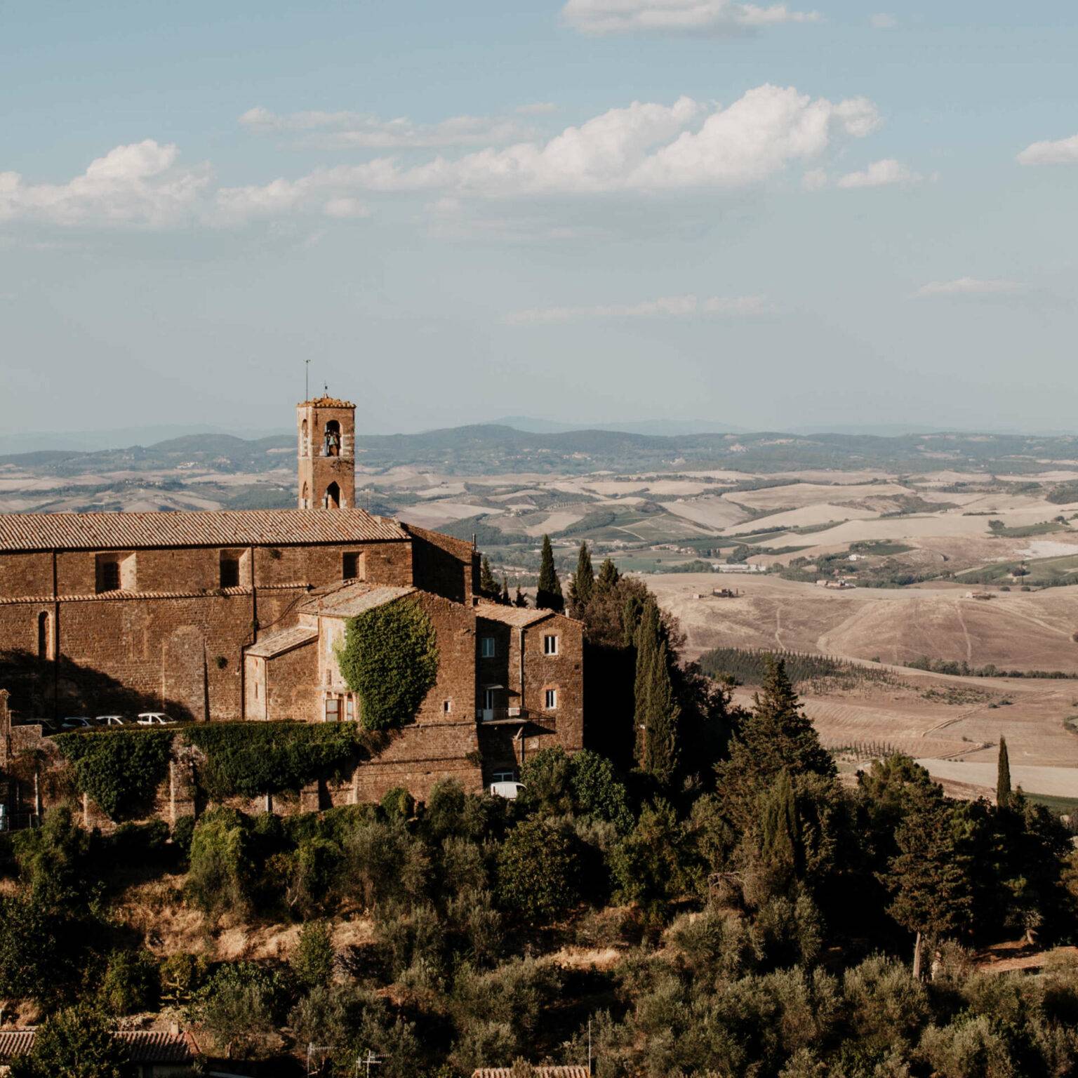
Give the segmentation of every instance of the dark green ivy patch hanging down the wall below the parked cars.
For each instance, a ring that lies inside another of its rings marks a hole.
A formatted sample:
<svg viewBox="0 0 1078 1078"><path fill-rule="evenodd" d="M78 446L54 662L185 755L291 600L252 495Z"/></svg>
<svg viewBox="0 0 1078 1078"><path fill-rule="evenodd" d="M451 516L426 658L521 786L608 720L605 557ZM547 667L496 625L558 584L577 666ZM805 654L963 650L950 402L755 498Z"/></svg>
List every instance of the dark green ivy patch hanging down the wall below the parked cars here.
<svg viewBox="0 0 1078 1078"><path fill-rule="evenodd" d="M169 730L100 730L54 737L74 764L75 785L110 819L135 819L153 810L172 755Z"/></svg>

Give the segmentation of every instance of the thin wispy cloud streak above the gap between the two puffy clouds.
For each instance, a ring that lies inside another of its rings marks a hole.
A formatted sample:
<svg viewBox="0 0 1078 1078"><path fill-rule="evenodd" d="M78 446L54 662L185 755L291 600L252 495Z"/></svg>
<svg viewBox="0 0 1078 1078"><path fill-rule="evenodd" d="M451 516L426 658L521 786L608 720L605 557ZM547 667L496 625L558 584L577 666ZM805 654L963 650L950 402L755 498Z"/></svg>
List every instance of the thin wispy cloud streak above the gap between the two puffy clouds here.
<svg viewBox="0 0 1078 1078"><path fill-rule="evenodd" d="M526 134L516 121L489 116L451 116L437 124L416 124L406 116L379 120L367 112L281 114L253 108L248 109L239 122L254 132L303 133L317 136L317 141L323 146L362 150L485 146L509 142Z"/></svg>

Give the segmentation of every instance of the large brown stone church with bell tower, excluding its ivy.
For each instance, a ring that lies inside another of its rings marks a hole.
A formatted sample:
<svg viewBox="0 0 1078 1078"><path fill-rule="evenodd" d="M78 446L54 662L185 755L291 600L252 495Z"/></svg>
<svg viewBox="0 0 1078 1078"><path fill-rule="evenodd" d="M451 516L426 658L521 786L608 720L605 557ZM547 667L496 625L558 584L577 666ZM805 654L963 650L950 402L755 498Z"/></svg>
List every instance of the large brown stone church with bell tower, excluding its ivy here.
<svg viewBox="0 0 1078 1078"><path fill-rule="evenodd" d="M349 618L417 603L437 683L357 794L516 777L583 743L579 622L480 599L473 545L356 507L355 405L296 414L294 510L0 514L0 689L16 721L162 709L207 722L362 720Z"/></svg>

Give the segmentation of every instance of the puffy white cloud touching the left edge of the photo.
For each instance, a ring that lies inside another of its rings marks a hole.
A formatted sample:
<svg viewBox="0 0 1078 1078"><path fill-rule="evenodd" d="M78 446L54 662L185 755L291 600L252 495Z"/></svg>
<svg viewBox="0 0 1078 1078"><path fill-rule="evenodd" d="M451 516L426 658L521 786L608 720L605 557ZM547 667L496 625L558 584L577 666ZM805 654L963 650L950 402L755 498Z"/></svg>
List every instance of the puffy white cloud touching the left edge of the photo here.
<svg viewBox="0 0 1078 1078"><path fill-rule="evenodd" d="M0 172L0 220L54 224L175 224L198 206L212 174L177 162L179 150L153 139L118 146L66 183L26 183Z"/></svg>

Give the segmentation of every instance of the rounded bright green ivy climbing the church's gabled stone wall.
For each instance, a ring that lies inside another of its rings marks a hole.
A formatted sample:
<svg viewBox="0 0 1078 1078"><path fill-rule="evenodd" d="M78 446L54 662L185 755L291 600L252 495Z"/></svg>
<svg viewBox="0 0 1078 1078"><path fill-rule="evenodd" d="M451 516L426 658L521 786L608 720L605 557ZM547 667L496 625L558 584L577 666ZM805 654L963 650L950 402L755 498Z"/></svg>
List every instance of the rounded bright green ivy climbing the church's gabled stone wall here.
<svg viewBox="0 0 1078 1078"><path fill-rule="evenodd" d="M399 727L415 718L438 678L438 635L416 600L389 603L348 619L337 663L359 695L363 727Z"/></svg>

